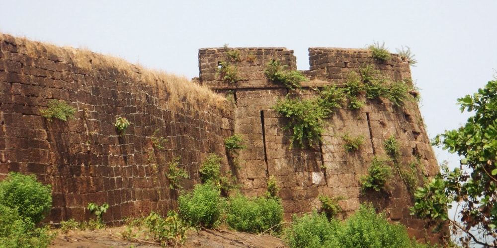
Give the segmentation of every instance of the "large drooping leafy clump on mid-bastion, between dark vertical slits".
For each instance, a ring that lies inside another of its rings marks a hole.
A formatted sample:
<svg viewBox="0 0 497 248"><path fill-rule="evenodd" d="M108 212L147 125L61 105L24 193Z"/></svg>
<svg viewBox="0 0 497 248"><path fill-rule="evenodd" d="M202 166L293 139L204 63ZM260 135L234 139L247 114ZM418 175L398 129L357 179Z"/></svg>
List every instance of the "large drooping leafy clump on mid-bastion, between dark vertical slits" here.
<svg viewBox="0 0 497 248"><path fill-rule="evenodd" d="M321 141L323 119L328 117L329 111L318 100L292 100L287 97L283 101L278 99L273 109L288 119L288 124L282 129L291 131L291 145L313 146Z"/></svg>

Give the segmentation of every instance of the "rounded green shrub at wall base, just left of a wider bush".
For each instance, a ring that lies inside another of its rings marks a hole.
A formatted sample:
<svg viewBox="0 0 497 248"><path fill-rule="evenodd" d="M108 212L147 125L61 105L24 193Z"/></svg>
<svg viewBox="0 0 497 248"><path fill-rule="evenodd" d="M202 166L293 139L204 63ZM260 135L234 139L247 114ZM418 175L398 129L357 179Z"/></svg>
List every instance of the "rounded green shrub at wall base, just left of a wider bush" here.
<svg viewBox="0 0 497 248"><path fill-rule="evenodd" d="M223 213L219 188L212 184L195 185L193 192L178 197L179 214L194 226L215 227Z"/></svg>

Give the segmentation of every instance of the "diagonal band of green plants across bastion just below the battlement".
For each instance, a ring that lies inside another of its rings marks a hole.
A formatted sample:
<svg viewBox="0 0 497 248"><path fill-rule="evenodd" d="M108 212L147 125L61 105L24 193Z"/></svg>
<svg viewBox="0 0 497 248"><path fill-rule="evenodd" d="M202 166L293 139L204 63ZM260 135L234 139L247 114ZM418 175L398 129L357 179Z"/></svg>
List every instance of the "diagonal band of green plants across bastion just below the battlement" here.
<svg viewBox="0 0 497 248"><path fill-rule="evenodd" d="M272 108L288 120L282 129L290 130L292 146L302 148L305 145L312 147L319 144L322 141L324 119L330 118L334 109L342 107L344 101L348 101L349 109L355 110L365 104L365 100L361 99L384 97L399 107L404 101L411 100L411 86L407 82L387 84L391 80L375 69L373 64L362 66L359 72L360 75L354 71L348 73L342 88L324 86L317 90L319 95L315 98L301 99L287 95L284 100L276 101ZM359 142L360 139L352 140L348 136L345 138L347 151L356 149L356 146L358 148L358 143L350 142Z"/></svg>

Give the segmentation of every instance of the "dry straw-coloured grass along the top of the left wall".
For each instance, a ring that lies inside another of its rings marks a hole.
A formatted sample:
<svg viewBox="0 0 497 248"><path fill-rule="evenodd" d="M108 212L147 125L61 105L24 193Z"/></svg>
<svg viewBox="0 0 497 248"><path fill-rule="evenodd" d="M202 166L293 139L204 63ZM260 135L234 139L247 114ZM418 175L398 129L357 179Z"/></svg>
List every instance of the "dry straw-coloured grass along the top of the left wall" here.
<svg viewBox="0 0 497 248"><path fill-rule="evenodd" d="M169 106L183 108L183 101L191 107L199 109L200 106L216 106L225 109L226 98L214 93L206 86L192 82L184 76L178 76L162 70L147 69L140 64L132 64L124 59L100 55L85 49L72 47L58 47L49 43L30 41L25 38L13 37L0 33L0 40L14 41L18 52L32 58L45 58L76 67L95 71L98 69L115 68L120 74L127 75L139 82L154 87L165 87L172 97L168 98Z"/></svg>

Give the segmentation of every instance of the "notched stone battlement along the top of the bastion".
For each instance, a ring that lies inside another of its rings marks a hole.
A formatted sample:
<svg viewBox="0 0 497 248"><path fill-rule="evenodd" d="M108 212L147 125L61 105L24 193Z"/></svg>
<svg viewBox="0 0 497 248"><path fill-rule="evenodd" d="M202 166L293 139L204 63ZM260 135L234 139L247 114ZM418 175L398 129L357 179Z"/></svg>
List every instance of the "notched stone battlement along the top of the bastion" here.
<svg viewBox="0 0 497 248"><path fill-rule="evenodd" d="M236 60L230 58L237 55ZM281 64L296 70L296 57L293 50L287 48L202 48L199 49L200 83L216 90L240 88L280 88L281 85L267 80L264 70L267 63L279 60ZM224 80L221 64L228 63L238 76L237 83ZM375 67L393 80L411 78L409 63L393 54L392 59L380 62L372 57L368 49L348 48L309 48L309 70L301 71L311 81L303 86L314 84L312 81L327 81L330 84L341 84L350 71L358 71L364 64L375 64Z"/></svg>

